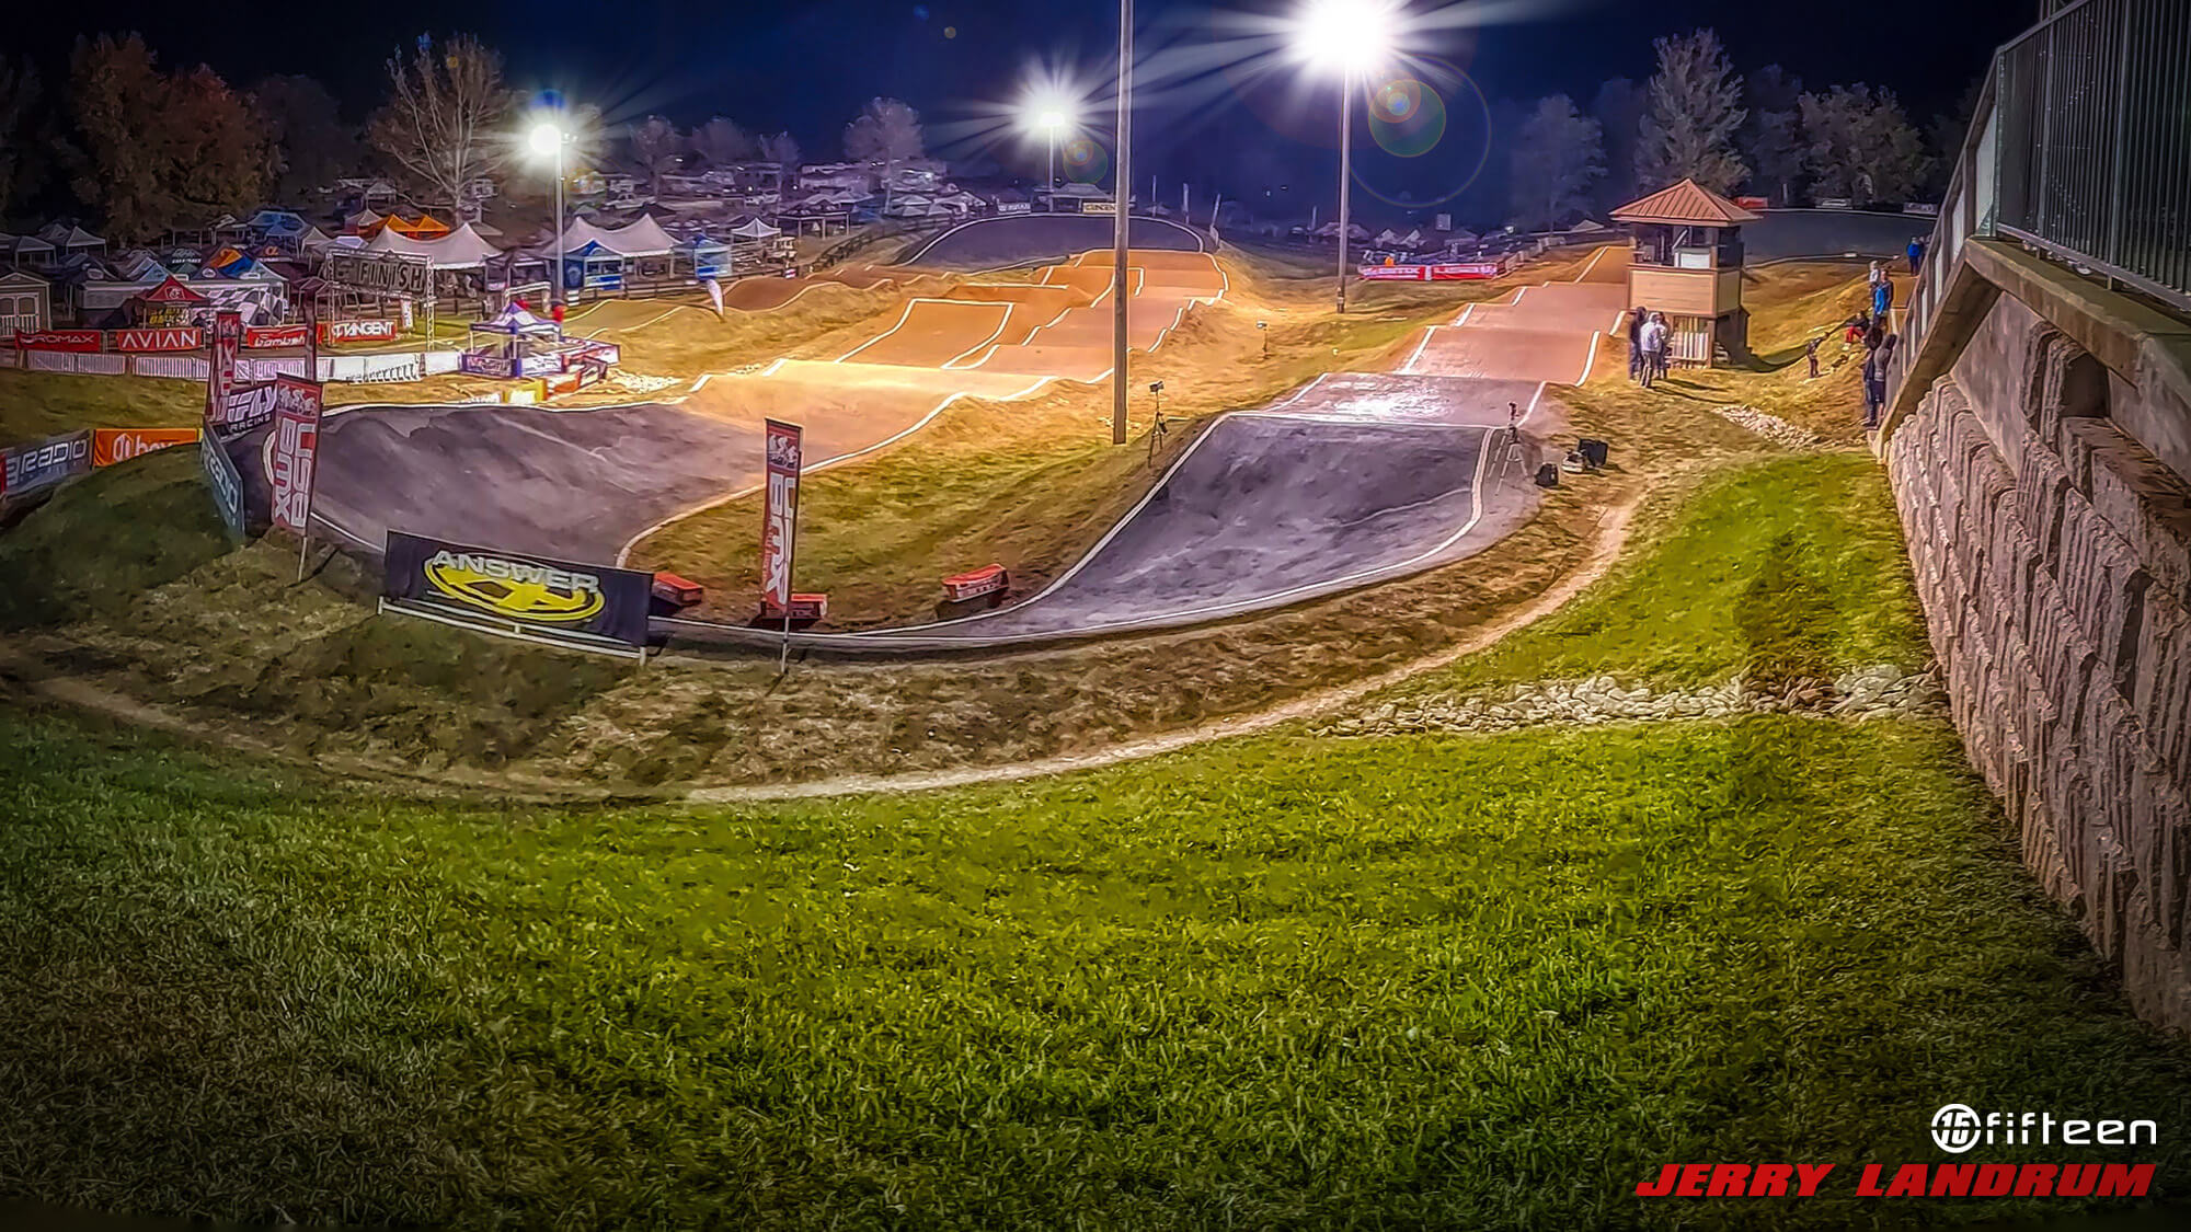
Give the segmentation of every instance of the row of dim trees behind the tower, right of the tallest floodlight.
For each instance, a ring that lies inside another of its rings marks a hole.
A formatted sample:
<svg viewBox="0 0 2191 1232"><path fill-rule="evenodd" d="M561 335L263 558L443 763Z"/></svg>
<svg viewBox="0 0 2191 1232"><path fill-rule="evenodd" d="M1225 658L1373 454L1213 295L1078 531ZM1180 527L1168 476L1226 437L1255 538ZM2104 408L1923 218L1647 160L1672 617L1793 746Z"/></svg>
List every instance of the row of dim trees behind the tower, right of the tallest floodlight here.
<svg viewBox="0 0 2191 1232"><path fill-rule="evenodd" d="M1683 178L1775 206L1911 202L1939 191L1976 107L1972 85L1928 136L1893 90L1805 90L1777 64L1744 81L1709 28L1652 46L1659 64L1643 85L1615 77L1586 110L1551 94L1512 123L1510 224L1560 226Z"/></svg>

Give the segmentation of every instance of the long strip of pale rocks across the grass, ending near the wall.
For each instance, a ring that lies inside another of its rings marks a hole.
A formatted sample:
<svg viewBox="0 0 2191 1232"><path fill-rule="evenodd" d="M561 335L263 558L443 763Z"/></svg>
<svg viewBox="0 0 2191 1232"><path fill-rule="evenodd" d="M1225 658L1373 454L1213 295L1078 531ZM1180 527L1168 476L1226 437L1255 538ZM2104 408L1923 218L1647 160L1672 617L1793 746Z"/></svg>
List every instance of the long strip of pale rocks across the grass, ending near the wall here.
<svg viewBox="0 0 2191 1232"><path fill-rule="evenodd" d="M1610 675L1538 680L1503 693L1433 693L1372 706L1317 728L1319 737L1389 737L1402 732L1505 732L1542 723L1630 723L1652 719L1731 719L1737 715L1836 715L1875 719L1939 710L1932 669L1873 664L1832 682L1797 680L1762 688L1744 677L1705 688L1654 691L1621 686Z"/></svg>

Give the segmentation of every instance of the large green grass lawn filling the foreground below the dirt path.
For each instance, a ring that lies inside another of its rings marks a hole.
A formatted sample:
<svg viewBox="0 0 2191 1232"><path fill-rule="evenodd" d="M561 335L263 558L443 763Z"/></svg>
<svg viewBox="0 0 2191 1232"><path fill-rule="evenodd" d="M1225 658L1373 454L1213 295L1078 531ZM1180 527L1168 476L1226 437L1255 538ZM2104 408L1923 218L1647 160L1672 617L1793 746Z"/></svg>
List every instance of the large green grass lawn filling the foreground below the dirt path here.
<svg viewBox="0 0 2191 1232"><path fill-rule="evenodd" d="M1950 1100L2180 1120L2184 1048L1959 763L1932 723L1748 719L546 811L7 708L0 1195L473 1225L2003 1214L1632 1197L1667 1162L1939 1160ZM2184 1151L2152 1151L2165 1186Z"/></svg>

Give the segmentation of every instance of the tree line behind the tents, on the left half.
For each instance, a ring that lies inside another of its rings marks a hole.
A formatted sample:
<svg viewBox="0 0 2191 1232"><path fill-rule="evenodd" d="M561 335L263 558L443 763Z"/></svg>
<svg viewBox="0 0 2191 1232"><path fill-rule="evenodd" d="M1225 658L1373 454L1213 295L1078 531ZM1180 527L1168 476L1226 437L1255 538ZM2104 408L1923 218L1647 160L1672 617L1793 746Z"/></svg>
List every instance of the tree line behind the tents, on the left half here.
<svg viewBox="0 0 2191 1232"><path fill-rule="evenodd" d="M208 66L162 68L134 33L79 39L59 90L28 57L0 57L0 217L85 210L110 239L138 243L223 213L305 206L316 189L353 175L388 175L421 204L454 213L473 180L524 158L519 129L532 103L480 39L423 35L390 55L386 72L381 103L348 123L311 77L269 75L237 90ZM789 169L802 158L789 132L754 134L727 116L684 132L666 116L607 125L598 107L576 105L563 125L574 171L613 149L657 189L686 156ZM844 147L887 180L922 156L920 116L874 99L846 125Z"/></svg>

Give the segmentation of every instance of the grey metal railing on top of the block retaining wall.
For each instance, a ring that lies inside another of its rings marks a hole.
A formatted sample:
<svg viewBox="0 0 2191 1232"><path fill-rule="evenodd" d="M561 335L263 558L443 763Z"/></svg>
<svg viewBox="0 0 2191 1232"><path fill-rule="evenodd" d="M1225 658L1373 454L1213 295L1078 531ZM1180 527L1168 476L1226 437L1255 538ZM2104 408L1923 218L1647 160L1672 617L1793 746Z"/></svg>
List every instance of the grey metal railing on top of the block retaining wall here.
<svg viewBox="0 0 2191 1232"><path fill-rule="evenodd" d="M2077 0L1994 53L1895 386L1972 237L2018 239L2191 311L2191 4Z"/></svg>

